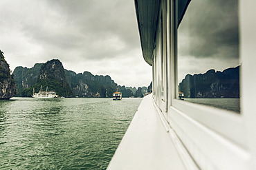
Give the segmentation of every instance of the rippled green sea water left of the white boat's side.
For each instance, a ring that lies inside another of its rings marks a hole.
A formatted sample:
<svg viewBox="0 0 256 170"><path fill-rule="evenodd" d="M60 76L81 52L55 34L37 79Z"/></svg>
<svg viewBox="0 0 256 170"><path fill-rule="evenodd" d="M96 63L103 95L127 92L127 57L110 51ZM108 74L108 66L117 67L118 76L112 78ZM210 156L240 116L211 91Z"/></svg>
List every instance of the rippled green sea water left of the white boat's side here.
<svg viewBox="0 0 256 170"><path fill-rule="evenodd" d="M0 100L0 169L106 169L141 99Z"/></svg>

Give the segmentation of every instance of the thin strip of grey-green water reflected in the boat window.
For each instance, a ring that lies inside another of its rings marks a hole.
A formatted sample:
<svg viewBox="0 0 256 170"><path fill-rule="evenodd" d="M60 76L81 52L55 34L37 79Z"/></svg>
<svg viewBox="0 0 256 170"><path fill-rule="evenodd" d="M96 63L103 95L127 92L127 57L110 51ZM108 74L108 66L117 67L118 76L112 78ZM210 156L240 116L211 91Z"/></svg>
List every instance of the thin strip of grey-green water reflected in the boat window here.
<svg viewBox="0 0 256 170"><path fill-rule="evenodd" d="M201 105L219 107L221 109L235 111L237 113L240 112L239 98L184 98L184 100Z"/></svg>

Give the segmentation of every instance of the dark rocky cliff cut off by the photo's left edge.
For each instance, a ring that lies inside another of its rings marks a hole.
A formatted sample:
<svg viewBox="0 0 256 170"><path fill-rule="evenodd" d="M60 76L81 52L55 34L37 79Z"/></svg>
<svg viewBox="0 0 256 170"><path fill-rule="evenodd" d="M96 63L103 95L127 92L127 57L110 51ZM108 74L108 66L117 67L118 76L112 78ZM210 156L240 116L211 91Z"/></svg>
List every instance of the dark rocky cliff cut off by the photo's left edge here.
<svg viewBox="0 0 256 170"><path fill-rule="evenodd" d="M10 75L9 65L0 50L0 99L9 99L16 93L15 80Z"/></svg>

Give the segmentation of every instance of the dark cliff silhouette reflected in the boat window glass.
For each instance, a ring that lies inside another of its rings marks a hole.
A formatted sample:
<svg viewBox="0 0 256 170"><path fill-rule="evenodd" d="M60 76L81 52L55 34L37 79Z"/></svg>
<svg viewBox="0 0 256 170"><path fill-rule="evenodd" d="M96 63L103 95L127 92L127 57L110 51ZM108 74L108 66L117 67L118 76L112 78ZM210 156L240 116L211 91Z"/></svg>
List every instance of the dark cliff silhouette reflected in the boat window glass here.
<svg viewBox="0 0 256 170"><path fill-rule="evenodd" d="M179 91L185 98L239 98L239 66L223 72L187 74L179 83Z"/></svg>

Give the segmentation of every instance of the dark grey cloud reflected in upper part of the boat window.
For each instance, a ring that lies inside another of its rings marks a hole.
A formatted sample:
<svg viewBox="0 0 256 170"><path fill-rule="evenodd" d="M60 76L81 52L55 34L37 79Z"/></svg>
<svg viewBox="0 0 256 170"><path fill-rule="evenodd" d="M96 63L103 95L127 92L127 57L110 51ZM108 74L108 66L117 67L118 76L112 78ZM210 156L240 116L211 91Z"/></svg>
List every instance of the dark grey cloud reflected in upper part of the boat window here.
<svg viewBox="0 0 256 170"><path fill-rule="evenodd" d="M180 40L188 41L181 55L238 59L238 34L237 1L192 1L179 27Z"/></svg>

